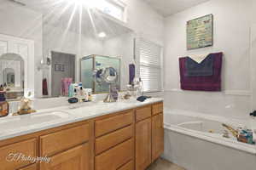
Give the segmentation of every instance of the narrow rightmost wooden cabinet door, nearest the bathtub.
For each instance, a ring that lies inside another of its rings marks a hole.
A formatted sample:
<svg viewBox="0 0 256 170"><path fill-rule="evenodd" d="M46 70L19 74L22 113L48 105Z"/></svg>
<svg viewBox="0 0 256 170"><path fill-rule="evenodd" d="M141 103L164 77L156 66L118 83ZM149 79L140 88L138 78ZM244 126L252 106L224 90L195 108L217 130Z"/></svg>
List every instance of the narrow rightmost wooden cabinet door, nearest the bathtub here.
<svg viewBox="0 0 256 170"><path fill-rule="evenodd" d="M164 151L164 123L163 114L152 117L152 161Z"/></svg>

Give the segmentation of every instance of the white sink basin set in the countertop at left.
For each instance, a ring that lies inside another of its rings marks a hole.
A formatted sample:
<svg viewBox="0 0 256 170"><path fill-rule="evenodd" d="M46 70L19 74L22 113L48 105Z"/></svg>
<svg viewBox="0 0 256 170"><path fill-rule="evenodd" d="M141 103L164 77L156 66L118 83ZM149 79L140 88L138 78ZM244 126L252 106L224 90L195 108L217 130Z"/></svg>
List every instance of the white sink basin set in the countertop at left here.
<svg viewBox="0 0 256 170"><path fill-rule="evenodd" d="M69 115L62 111L52 111L44 113L32 113L24 116L11 116L0 119L0 135L4 131L15 130L22 127L36 126L38 124L55 122L62 118L68 118Z"/></svg>

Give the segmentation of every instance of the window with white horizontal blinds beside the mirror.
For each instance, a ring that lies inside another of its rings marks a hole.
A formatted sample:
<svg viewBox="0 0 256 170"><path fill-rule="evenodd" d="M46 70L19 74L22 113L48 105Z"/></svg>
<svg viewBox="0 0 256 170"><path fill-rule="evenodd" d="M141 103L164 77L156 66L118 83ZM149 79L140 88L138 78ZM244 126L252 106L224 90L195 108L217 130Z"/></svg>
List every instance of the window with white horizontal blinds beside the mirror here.
<svg viewBox="0 0 256 170"><path fill-rule="evenodd" d="M160 92L162 90L162 48L154 42L140 39L140 77L143 80L145 93Z"/></svg>

